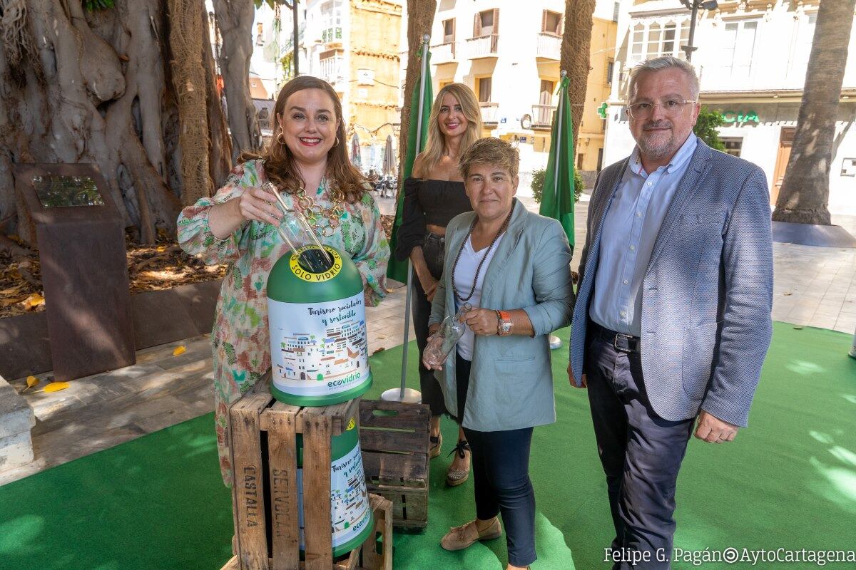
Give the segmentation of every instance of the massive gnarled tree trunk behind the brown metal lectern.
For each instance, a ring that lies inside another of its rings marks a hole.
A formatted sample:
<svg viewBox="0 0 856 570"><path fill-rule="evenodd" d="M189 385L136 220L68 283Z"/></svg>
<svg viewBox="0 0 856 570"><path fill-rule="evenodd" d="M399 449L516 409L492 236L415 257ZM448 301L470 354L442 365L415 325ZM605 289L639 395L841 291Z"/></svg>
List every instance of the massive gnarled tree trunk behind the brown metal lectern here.
<svg viewBox="0 0 856 570"><path fill-rule="evenodd" d="M165 0L116 0L93 13L77 0L0 4L0 220L17 214L6 231L35 239L12 164L88 162L142 241L174 234L181 125L163 64L172 59Z"/></svg>

